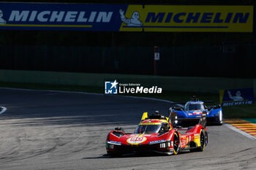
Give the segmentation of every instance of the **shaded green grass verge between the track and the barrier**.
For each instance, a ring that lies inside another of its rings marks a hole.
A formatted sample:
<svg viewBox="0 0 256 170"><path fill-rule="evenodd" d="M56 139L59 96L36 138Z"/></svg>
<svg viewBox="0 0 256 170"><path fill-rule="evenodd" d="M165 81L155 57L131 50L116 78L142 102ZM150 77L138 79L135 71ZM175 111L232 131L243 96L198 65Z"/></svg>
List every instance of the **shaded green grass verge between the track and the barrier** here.
<svg viewBox="0 0 256 170"><path fill-rule="evenodd" d="M66 91L80 91L89 93L104 93L103 88L91 86L77 86L77 85L45 85L22 82L0 82L0 87L6 88L28 88L28 89L42 89L42 90L66 90ZM184 102L189 100L192 96L197 96L200 100L213 100L214 104L219 104L219 94L212 93L193 93L193 92L178 92L163 90L162 94L129 94L129 96L143 96L150 98L161 98L170 101ZM214 105L209 104L209 105ZM225 118L256 118L256 104L236 105L229 107L222 107L223 116Z"/></svg>

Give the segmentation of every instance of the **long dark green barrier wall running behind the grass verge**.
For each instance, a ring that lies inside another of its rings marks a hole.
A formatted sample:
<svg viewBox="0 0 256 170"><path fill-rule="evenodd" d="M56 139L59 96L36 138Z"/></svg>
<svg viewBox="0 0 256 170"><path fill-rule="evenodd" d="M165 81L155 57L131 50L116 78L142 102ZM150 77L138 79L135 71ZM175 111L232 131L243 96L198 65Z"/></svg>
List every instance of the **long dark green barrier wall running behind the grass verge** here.
<svg viewBox="0 0 256 170"><path fill-rule="evenodd" d="M86 85L102 87L104 82L117 80L121 83L140 83L144 87L157 85L163 90L219 93L229 88L252 88L256 80L217 77L164 77L132 74L89 74L72 72L40 72L0 70L1 82L31 82L50 85Z"/></svg>

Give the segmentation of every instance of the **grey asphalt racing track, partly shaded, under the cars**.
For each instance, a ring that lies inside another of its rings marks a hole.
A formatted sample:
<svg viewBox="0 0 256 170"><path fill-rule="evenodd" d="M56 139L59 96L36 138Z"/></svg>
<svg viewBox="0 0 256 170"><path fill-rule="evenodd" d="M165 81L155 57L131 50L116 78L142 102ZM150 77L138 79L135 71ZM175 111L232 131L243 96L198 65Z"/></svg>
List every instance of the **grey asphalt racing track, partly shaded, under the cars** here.
<svg viewBox="0 0 256 170"><path fill-rule="evenodd" d="M121 96L0 88L0 169L254 169L256 142L225 125L210 126L203 152L109 158L105 137L132 132L145 111L169 104ZM225 114L225 113L224 113Z"/></svg>

